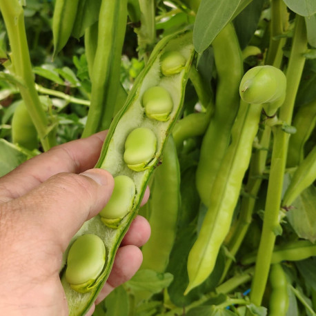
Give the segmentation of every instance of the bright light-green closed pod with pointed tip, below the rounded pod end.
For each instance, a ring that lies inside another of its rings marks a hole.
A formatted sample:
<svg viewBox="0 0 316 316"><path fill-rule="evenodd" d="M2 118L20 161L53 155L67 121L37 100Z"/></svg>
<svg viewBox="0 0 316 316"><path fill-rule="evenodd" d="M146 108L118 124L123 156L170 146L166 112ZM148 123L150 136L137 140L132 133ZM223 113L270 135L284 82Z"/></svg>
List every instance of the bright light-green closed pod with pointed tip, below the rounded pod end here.
<svg viewBox="0 0 316 316"><path fill-rule="evenodd" d="M241 101L232 130L232 142L210 193L210 206L199 236L188 256L189 284L185 295L204 282L213 271L219 248L228 234L242 179L250 162L260 114L261 106Z"/></svg>

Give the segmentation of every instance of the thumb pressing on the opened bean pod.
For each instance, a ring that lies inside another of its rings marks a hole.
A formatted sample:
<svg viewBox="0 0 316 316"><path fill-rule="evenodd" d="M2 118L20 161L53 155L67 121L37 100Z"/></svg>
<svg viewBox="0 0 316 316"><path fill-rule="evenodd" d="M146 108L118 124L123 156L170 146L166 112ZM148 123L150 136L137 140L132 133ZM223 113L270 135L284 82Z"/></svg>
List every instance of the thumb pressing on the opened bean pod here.
<svg viewBox="0 0 316 316"><path fill-rule="evenodd" d="M59 173L14 201L23 206L23 212L21 208L19 212L23 226L28 223L33 230L41 230L63 251L83 223L106 205L113 188L113 177L106 170Z"/></svg>

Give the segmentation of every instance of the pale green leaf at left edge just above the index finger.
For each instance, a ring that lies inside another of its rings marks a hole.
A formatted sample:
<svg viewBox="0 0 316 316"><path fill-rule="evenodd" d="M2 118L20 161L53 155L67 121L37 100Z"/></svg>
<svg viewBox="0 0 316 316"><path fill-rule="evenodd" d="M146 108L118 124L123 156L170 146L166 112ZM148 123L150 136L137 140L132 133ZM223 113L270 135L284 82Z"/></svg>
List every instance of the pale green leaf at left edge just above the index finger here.
<svg viewBox="0 0 316 316"><path fill-rule="evenodd" d="M0 177L32 157L5 139L0 139Z"/></svg>

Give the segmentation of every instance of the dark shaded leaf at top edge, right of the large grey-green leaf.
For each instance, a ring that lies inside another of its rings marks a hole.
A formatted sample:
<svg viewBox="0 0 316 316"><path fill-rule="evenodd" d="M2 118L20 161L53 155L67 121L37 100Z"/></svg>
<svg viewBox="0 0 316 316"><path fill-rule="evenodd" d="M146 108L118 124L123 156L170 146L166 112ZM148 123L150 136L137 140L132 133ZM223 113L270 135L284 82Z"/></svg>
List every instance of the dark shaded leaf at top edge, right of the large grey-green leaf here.
<svg viewBox="0 0 316 316"><path fill-rule="evenodd" d="M263 6L264 0L253 0L235 17L233 23L241 50L246 48L255 30L257 30Z"/></svg>

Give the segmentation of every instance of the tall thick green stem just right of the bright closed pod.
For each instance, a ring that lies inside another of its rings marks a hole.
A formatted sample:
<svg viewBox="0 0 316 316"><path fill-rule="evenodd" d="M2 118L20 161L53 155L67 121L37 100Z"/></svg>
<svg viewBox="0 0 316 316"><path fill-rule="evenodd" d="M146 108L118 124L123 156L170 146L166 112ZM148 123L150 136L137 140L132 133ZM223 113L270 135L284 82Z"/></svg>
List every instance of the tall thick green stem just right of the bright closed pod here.
<svg viewBox="0 0 316 316"><path fill-rule="evenodd" d="M279 114L280 120L288 125L290 125L293 115L295 97L305 63L304 52L306 52L306 49L307 39L304 17L297 15L292 51L288 62L288 71L286 73L286 99ZM289 135L284 132L280 126L275 127L273 132L275 140L273 143L273 155L268 181L264 226L262 228L255 276L250 295L251 302L257 306L261 304L264 289L266 288L270 261L275 244L276 230L279 228L279 209L281 206L282 186L289 139Z"/></svg>

